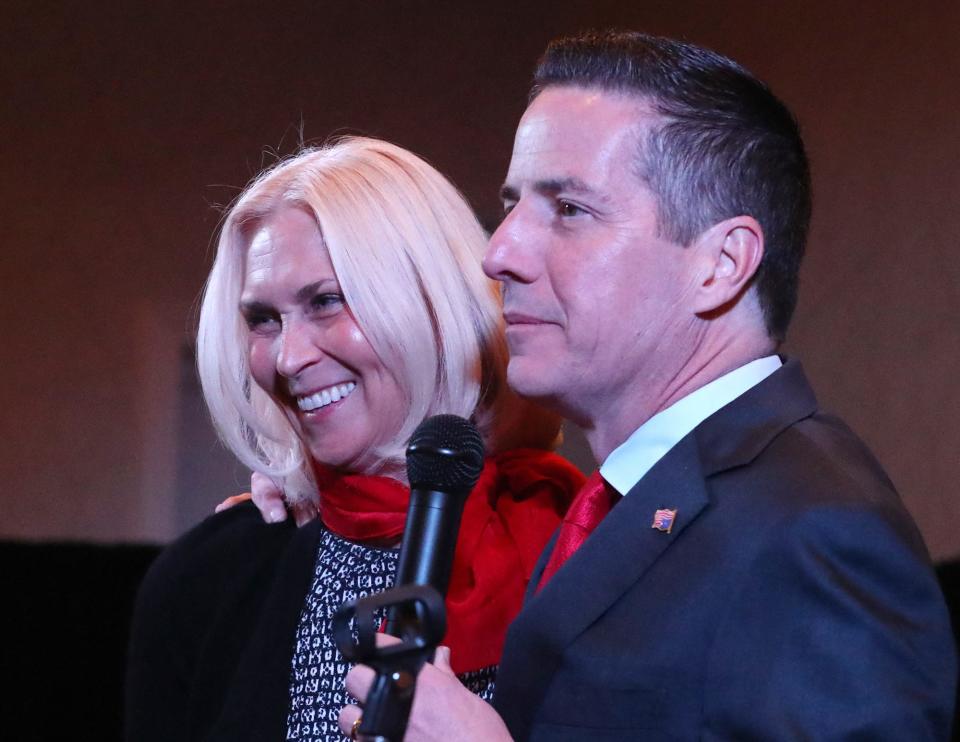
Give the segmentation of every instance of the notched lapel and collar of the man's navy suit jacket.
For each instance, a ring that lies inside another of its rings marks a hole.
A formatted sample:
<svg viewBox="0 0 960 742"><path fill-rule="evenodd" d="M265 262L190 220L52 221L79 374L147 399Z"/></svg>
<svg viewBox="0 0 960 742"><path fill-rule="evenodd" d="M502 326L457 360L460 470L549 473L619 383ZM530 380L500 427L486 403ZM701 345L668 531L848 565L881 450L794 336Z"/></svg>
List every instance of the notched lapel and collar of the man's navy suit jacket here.
<svg viewBox="0 0 960 742"><path fill-rule="evenodd" d="M494 701L517 739L529 735L565 648L668 554L708 508L707 478L749 462L785 428L815 411L800 365L788 361L674 446L540 592L528 590L507 634ZM669 533L652 527L659 508L677 511ZM555 543L556 536L531 585L539 582Z"/></svg>

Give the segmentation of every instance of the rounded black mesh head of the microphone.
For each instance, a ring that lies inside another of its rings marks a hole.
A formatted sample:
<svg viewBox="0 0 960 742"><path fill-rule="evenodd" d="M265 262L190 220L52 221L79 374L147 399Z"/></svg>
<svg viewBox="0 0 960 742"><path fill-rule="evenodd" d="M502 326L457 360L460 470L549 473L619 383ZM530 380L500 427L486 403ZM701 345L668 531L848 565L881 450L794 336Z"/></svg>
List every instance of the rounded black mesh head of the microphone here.
<svg viewBox="0 0 960 742"><path fill-rule="evenodd" d="M407 479L411 489L469 492L483 470L483 438L457 415L428 417L410 437Z"/></svg>

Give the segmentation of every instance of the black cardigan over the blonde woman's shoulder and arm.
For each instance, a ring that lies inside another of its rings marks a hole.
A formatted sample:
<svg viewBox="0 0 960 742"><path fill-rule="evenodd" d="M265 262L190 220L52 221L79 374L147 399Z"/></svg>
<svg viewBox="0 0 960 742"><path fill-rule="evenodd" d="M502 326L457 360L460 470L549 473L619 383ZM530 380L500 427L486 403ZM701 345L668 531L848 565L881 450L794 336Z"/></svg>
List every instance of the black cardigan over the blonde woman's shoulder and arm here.
<svg viewBox="0 0 960 742"><path fill-rule="evenodd" d="M134 612L129 742L285 739L296 627L321 529L267 525L244 503L161 554Z"/></svg>

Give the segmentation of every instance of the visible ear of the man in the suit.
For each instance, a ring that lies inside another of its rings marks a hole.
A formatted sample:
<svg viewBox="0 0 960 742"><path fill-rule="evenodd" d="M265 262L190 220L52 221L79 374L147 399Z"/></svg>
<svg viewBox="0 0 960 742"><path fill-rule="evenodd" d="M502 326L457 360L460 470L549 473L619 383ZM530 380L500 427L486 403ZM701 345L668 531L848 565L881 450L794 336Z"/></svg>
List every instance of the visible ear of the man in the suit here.
<svg viewBox="0 0 960 742"><path fill-rule="evenodd" d="M763 229L752 216L735 216L704 230L692 247L700 265L694 311L710 314L750 286L763 259Z"/></svg>

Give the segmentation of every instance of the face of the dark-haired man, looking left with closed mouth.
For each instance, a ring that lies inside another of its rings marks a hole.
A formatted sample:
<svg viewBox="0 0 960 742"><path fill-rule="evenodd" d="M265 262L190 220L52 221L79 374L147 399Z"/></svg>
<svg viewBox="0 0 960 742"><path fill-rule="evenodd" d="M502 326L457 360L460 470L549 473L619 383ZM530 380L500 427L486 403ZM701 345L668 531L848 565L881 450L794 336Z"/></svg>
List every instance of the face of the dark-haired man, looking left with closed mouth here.
<svg viewBox="0 0 960 742"><path fill-rule="evenodd" d="M656 411L697 332L695 251L658 236L636 173L656 120L636 96L541 93L520 121L506 218L484 259L503 282L510 385L588 427Z"/></svg>

